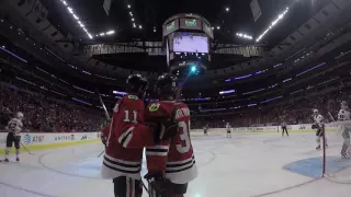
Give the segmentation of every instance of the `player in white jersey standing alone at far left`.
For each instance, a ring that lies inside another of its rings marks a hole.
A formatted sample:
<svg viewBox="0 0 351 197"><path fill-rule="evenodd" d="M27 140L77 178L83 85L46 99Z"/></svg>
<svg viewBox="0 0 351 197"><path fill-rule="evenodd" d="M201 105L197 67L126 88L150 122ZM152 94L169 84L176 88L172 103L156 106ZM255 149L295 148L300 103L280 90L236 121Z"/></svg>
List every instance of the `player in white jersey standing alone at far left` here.
<svg viewBox="0 0 351 197"><path fill-rule="evenodd" d="M7 149L5 149L5 162L9 162L9 153L12 144L15 147L15 160L20 161L20 142L21 142L21 130L23 127L23 114L19 112L16 117L12 118L5 129L9 131L7 137Z"/></svg>

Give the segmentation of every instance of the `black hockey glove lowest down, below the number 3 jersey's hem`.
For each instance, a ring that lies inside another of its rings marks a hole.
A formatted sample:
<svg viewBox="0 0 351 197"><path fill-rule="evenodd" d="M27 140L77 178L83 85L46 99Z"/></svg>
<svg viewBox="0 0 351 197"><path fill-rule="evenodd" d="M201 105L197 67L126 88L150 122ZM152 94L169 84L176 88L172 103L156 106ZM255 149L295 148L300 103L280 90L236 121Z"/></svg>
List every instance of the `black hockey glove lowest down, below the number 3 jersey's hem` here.
<svg viewBox="0 0 351 197"><path fill-rule="evenodd" d="M165 178L160 174L149 174L147 173L144 176L145 179L149 183L149 194L152 190L156 192L156 196L160 197L172 197L173 196L173 184Z"/></svg>

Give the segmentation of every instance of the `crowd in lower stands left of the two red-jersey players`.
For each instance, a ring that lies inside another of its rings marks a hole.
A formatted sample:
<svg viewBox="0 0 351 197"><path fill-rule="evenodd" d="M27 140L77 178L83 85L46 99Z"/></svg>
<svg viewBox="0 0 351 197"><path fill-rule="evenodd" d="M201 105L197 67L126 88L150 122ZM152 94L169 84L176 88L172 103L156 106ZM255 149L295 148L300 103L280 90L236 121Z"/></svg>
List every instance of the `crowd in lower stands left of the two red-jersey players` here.
<svg viewBox="0 0 351 197"><path fill-rule="evenodd" d="M58 103L45 96L0 85L0 131L16 112L24 114L24 129L39 132L97 131L103 118L97 111Z"/></svg>

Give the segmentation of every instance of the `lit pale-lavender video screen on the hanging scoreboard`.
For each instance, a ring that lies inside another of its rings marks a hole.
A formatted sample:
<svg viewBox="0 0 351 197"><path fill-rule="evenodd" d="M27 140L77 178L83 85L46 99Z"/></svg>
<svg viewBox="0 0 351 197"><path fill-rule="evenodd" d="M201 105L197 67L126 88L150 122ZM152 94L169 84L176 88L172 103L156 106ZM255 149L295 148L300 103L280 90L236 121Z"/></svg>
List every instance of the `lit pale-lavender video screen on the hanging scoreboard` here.
<svg viewBox="0 0 351 197"><path fill-rule="evenodd" d="M176 34L173 38L173 51L208 54L208 38L192 34Z"/></svg>

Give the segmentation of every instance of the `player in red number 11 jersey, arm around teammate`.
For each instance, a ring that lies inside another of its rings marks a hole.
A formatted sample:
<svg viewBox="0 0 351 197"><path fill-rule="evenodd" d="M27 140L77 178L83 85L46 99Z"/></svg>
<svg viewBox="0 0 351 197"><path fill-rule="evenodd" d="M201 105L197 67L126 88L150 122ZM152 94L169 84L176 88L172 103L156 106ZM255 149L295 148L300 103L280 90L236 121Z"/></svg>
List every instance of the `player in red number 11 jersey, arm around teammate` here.
<svg viewBox="0 0 351 197"><path fill-rule="evenodd" d="M103 178L113 179L116 197L140 197L140 169L144 147L155 144L154 130L174 128L174 123L144 125L144 96L148 86L140 74L127 79L127 95L114 107L101 170ZM168 124L168 126L167 126Z"/></svg>

